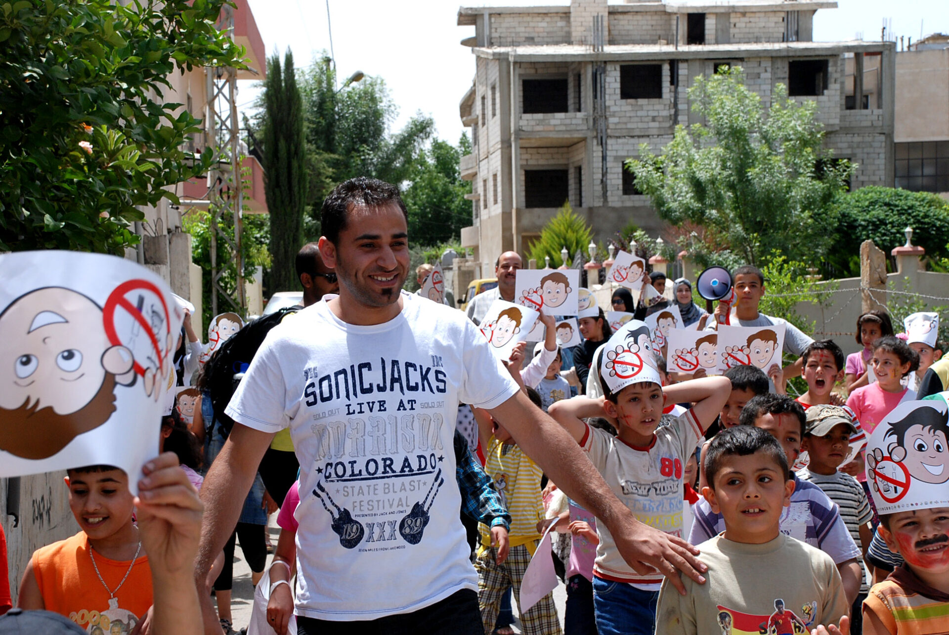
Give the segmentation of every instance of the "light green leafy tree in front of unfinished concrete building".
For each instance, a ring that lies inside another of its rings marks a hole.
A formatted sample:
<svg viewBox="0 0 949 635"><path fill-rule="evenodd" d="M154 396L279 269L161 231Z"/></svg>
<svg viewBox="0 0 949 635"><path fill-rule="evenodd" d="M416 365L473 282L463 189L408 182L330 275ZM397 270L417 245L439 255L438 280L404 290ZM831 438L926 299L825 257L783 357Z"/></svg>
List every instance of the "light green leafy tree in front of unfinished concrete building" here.
<svg viewBox="0 0 949 635"><path fill-rule="evenodd" d="M766 116L739 66L699 77L689 98L707 123L679 125L660 156L643 144L641 159L627 161L661 217L701 226L751 264L775 249L797 260L827 253L830 203L853 167L822 149L817 104L776 84Z"/></svg>

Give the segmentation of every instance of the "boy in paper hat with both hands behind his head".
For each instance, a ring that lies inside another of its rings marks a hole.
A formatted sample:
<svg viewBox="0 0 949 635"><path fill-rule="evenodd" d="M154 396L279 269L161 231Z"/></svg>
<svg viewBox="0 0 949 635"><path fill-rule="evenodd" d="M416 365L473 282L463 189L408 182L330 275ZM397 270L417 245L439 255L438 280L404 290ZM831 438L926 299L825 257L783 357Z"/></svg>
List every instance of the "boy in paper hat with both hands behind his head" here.
<svg viewBox="0 0 949 635"><path fill-rule="evenodd" d="M643 336L644 333L644 336ZM581 444L623 504L643 522L681 537L682 473L698 439L715 420L729 394L724 377L706 377L662 387L644 323L633 320L606 343L600 356L604 397L556 402L549 414ZM695 402L660 426L665 402ZM584 419L605 417L612 437ZM651 635L662 572L640 575L623 561L609 531L598 526L593 600L601 635Z"/></svg>

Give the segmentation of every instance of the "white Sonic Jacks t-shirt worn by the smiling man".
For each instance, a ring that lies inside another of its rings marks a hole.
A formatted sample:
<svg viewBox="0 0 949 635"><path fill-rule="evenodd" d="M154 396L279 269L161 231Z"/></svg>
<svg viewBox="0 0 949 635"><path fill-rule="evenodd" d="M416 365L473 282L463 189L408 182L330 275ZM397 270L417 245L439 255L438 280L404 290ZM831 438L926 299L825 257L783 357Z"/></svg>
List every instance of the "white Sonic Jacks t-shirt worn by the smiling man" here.
<svg viewBox="0 0 949 635"><path fill-rule="evenodd" d="M493 408L517 391L465 315L401 294L381 325L326 305L274 327L227 414L289 427L300 460L296 613L372 620L477 588L455 479L458 402Z"/></svg>

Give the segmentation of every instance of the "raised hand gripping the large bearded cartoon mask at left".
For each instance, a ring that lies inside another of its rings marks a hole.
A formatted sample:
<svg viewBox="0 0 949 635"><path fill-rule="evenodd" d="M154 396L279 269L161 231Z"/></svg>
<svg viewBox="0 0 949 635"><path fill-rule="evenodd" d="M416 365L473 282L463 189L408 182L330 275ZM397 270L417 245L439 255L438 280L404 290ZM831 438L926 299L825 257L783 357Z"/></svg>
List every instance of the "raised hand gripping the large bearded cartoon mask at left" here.
<svg viewBox="0 0 949 635"><path fill-rule="evenodd" d="M197 490L173 452L153 458L141 471L135 505L148 564L158 576L184 572L184 579L192 579L204 512Z"/></svg>

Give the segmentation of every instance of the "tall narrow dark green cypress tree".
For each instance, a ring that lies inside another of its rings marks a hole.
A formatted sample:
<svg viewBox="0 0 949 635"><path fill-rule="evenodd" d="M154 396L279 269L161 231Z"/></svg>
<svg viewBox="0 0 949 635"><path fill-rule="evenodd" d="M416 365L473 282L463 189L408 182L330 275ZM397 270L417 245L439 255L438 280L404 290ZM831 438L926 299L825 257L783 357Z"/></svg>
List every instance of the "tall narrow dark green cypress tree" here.
<svg viewBox="0 0 949 635"><path fill-rule="evenodd" d="M272 290L296 289L296 253L303 245L303 218L307 207L307 147L304 140L303 100L296 84L293 54L284 67L276 55L267 63L264 84L267 125L264 128L264 170L267 209L270 211L270 284Z"/></svg>

